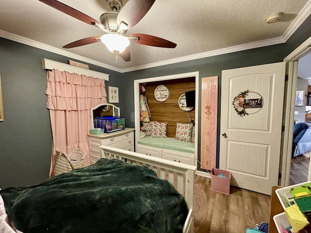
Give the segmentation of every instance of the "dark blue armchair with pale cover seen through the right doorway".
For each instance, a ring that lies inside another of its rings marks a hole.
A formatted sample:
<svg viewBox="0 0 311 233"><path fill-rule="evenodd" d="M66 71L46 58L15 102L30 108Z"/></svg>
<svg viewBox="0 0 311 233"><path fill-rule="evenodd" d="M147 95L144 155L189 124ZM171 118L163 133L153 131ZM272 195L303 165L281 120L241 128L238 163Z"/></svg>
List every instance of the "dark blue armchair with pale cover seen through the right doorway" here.
<svg viewBox="0 0 311 233"><path fill-rule="evenodd" d="M311 151L311 123L294 125L292 157Z"/></svg>

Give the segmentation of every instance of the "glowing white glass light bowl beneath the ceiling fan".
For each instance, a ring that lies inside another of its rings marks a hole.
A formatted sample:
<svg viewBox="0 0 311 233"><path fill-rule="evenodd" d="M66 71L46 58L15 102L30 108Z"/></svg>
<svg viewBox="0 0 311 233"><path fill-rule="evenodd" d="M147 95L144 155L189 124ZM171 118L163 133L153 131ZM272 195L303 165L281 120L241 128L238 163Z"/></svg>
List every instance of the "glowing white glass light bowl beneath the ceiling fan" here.
<svg viewBox="0 0 311 233"><path fill-rule="evenodd" d="M104 34L101 37L101 41L112 53L116 51L121 53L130 45L130 41L125 36L114 33Z"/></svg>

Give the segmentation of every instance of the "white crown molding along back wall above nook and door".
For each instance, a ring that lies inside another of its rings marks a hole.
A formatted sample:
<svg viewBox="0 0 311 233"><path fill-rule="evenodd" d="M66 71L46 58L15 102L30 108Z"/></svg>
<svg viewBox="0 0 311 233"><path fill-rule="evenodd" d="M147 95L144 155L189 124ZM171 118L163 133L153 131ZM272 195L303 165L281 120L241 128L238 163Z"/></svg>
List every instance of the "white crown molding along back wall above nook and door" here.
<svg viewBox="0 0 311 233"><path fill-rule="evenodd" d="M125 72L135 71L135 70L139 70L139 69L160 67L160 66L170 65L170 64L179 63L179 62L186 62L186 61L196 60L196 59L200 59L200 58L222 55L222 54L226 54L226 53L230 53L230 52L238 52L238 51L243 51L243 50L255 49L255 48L259 48L259 47L265 47L265 46L269 46L269 45L281 44L284 42L285 41L282 37L276 37L273 39L251 42L251 43L232 46L232 47L228 47L228 48L224 48L224 49L220 49L220 50L212 50L212 51L208 51L208 52L202 52L202 53L193 54L193 55L189 55L189 56L174 58L174 59L170 59L170 60L166 60L166 61L150 63L150 64L146 64L146 65L142 65L142 66L130 67L130 68L122 69L121 72L125 73Z"/></svg>

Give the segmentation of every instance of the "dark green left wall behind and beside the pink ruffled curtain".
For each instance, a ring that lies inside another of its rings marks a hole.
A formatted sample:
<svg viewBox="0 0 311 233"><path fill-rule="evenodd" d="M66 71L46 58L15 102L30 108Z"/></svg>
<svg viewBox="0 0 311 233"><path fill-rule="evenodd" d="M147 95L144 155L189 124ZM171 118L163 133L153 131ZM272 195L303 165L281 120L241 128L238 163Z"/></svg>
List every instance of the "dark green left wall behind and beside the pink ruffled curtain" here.
<svg viewBox="0 0 311 233"><path fill-rule="evenodd" d="M4 121L0 122L1 188L37 183L49 176L52 132L42 58L66 64L69 60L68 57L0 38L4 108ZM118 86L120 73L88 65L92 70L110 74L106 86Z"/></svg>

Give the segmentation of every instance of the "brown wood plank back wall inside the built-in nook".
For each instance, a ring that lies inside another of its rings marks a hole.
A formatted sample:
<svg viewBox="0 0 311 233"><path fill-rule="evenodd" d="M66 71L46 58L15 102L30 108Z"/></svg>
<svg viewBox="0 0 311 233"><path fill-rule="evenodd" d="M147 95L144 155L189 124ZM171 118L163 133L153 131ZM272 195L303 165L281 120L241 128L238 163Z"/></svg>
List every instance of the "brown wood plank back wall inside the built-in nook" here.
<svg viewBox="0 0 311 233"><path fill-rule="evenodd" d="M146 97L151 112L151 120L158 122L168 122L168 137L175 137L176 124L190 123L195 118L195 110L188 112L183 111L178 105L179 97L187 92L195 89L195 77L174 79L167 81L158 81L145 83ZM165 85L170 90L170 97L164 102L155 100L154 91L158 85ZM190 118L190 120L189 120Z"/></svg>

